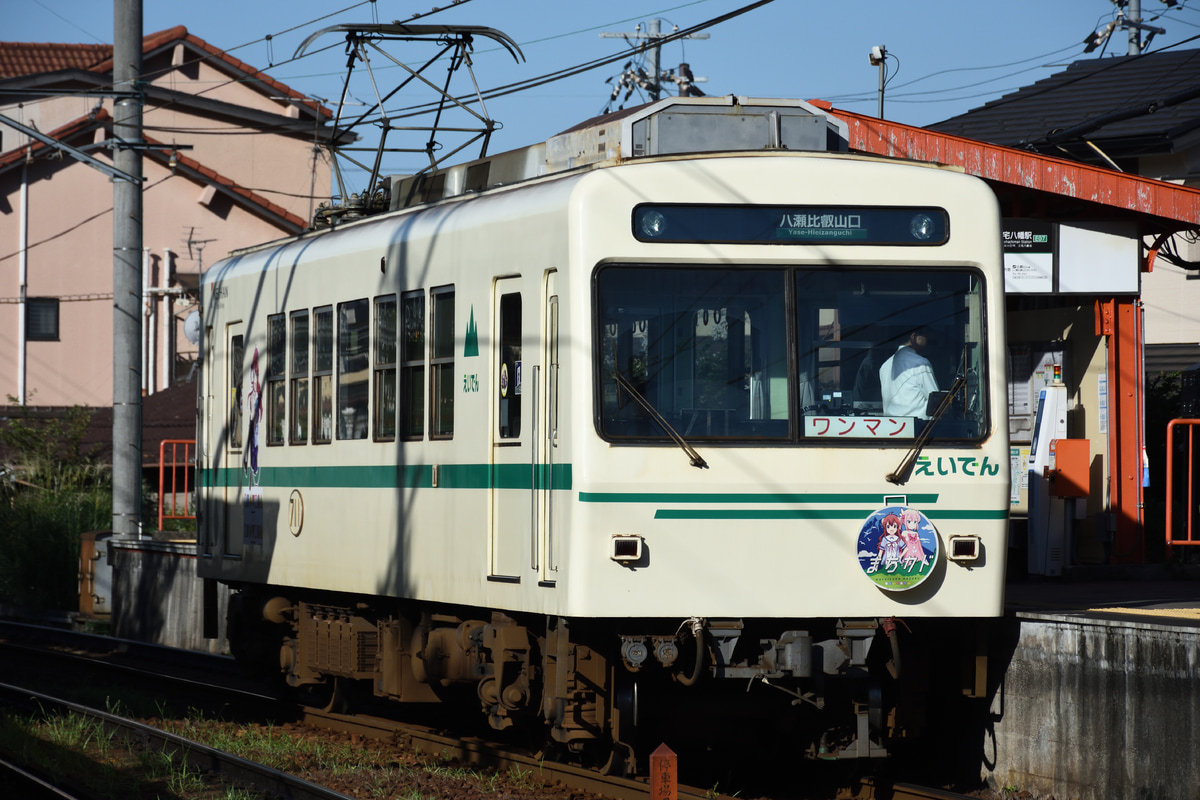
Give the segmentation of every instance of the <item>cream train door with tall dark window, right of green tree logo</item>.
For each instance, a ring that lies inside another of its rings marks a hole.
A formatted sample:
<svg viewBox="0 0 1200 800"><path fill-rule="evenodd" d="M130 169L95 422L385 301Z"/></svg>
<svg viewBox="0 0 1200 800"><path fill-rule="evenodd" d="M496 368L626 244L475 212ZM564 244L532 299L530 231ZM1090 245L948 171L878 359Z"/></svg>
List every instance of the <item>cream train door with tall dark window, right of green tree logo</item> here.
<svg viewBox="0 0 1200 800"><path fill-rule="evenodd" d="M533 437L529 425L535 405L533 392L526 392L534 348L526 348L526 324L530 313L521 294L520 278L496 281L492 314L492 463L491 463L491 577L520 581L523 564L529 564L532 537L535 535L535 497L533 493ZM534 305L536 308L536 305Z"/></svg>

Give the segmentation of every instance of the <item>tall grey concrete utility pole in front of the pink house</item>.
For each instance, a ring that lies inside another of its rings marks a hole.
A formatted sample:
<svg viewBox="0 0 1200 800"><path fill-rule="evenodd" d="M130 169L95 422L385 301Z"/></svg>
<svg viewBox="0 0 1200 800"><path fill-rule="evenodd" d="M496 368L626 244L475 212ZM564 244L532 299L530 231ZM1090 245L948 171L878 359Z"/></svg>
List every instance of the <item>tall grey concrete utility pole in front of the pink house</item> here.
<svg viewBox="0 0 1200 800"><path fill-rule="evenodd" d="M113 533L140 533L142 0L113 0Z"/></svg>

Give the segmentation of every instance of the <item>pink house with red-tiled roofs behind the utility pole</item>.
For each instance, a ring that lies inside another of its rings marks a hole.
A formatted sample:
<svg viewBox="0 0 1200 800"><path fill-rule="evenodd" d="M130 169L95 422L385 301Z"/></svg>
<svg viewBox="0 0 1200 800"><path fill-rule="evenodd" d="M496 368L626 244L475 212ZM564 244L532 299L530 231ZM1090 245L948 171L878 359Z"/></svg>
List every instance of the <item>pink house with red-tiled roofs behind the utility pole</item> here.
<svg viewBox="0 0 1200 800"><path fill-rule="evenodd" d="M0 42L0 115L112 163L107 44ZM172 28L143 38L143 389L187 380L204 267L302 231L331 112ZM0 401L112 407L113 187L0 119ZM151 443L146 443L148 449ZM155 451L157 445L154 445Z"/></svg>

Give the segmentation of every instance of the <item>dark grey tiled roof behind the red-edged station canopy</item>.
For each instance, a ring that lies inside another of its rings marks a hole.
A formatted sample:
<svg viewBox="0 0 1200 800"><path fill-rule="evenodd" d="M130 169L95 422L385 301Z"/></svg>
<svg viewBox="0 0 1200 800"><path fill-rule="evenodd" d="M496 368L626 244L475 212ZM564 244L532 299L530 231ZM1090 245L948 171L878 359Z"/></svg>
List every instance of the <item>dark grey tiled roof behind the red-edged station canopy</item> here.
<svg viewBox="0 0 1200 800"><path fill-rule="evenodd" d="M1044 152L1086 142L1114 158L1171 152L1200 127L1198 86L1200 49L1088 59L928 127Z"/></svg>

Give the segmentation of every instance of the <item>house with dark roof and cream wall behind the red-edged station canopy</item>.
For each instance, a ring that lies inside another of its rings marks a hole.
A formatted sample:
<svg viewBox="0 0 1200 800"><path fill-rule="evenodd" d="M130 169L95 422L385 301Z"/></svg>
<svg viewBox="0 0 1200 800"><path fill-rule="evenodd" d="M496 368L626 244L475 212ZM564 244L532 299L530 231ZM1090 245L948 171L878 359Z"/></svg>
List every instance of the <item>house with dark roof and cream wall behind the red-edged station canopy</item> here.
<svg viewBox="0 0 1200 800"><path fill-rule="evenodd" d="M1200 49L1076 61L928 127L1200 186ZM1196 239L1190 231L1163 240L1152 271L1141 276L1148 377L1200 362Z"/></svg>

